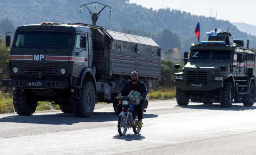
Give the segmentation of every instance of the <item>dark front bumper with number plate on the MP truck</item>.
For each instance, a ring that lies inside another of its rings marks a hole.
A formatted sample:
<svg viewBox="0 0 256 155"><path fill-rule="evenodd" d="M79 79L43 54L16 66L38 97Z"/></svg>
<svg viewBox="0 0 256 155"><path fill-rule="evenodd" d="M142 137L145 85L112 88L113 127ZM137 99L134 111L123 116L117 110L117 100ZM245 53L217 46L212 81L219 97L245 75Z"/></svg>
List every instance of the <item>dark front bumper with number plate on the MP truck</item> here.
<svg viewBox="0 0 256 155"><path fill-rule="evenodd" d="M67 80L13 80L4 79L3 86L16 88L37 88L37 89L67 89Z"/></svg>

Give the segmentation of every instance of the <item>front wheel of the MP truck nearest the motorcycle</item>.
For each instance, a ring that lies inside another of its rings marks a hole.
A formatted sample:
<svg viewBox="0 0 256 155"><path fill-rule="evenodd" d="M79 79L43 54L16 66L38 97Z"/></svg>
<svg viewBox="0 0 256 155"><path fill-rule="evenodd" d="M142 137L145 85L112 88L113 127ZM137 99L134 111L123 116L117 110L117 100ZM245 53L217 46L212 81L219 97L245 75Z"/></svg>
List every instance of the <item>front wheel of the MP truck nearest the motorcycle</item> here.
<svg viewBox="0 0 256 155"><path fill-rule="evenodd" d="M77 94L80 94L77 96ZM91 117L96 102L95 88L92 82L83 81L82 88L72 94L71 105L76 117Z"/></svg>

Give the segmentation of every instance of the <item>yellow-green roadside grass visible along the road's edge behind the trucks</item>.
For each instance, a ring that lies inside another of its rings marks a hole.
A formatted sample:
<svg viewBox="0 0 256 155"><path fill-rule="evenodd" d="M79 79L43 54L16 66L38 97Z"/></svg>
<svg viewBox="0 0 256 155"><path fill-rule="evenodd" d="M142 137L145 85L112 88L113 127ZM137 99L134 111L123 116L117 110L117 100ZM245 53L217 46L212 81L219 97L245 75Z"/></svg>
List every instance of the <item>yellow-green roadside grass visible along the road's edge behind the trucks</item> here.
<svg viewBox="0 0 256 155"><path fill-rule="evenodd" d="M156 91L148 92L149 100L157 100L157 99L170 99L175 98L176 92L175 90L161 89ZM51 102L38 102L36 111L44 111L44 110L59 110L59 105L52 104ZM4 93L0 91L0 113L14 113L13 107L13 96L10 93Z"/></svg>

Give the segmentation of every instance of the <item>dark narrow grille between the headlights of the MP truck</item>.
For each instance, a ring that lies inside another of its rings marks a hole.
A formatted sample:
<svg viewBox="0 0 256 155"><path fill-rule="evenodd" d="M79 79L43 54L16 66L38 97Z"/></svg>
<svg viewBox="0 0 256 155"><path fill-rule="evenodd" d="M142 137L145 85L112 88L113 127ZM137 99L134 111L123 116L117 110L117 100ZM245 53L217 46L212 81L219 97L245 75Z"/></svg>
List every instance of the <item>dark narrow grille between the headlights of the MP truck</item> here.
<svg viewBox="0 0 256 155"><path fill-rule="evenodd" d="M21 67L21 74L26 75L57 75L58 68Z"/></svg>

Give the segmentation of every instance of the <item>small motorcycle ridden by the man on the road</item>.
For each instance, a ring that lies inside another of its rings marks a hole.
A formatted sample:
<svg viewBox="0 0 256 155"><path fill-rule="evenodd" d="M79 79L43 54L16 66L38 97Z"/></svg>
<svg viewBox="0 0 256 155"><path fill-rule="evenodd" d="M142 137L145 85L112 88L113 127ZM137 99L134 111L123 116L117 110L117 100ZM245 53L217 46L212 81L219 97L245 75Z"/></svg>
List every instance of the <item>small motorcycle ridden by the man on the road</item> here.
<svg viewBox="0 0 256 155"><path fill-rule="evenodd" d="M118 133L121 136L126 134L127 129L132 128L135 134L138 134L141 127L138 126L138 116L134 109L134 106L140 103L139 100L140 93L138 91L132 90L128 96L119 96L119 103L122 103L122 112L119 114L118 118Z"/></svg>

